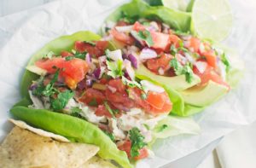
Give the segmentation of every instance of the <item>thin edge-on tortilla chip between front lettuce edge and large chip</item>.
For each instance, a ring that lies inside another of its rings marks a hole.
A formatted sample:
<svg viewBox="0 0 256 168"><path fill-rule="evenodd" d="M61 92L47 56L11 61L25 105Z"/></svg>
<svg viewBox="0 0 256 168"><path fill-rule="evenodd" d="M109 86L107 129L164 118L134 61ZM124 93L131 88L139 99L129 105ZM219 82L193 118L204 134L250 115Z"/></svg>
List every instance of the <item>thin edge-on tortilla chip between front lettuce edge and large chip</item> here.
<svg viewBox="0 0 256 168"><path fill-rule="evenodd" d="M48 132L48 131L41 130L41 129L38 129L38 128L33 128L32 126L27 125L24 121L15 120L15 119L9 119L9 121L12 122L13 124L19 126L20 128L30 130L30 131L32 131L32 132L34 132L34 133L36 133L40 136L51 137L51 138L53 138L57 141L60 141L60 142L69 142L69 140L64 136L56 135L52 132Z"/></svg>

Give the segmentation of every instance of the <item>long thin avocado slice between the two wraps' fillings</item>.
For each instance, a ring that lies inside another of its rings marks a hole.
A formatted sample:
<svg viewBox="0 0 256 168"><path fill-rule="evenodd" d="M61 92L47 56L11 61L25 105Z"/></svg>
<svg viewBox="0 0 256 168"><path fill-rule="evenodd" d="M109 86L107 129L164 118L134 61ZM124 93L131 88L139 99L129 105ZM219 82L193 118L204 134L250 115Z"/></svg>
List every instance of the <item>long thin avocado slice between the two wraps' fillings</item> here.
<svg viewBox="0 0 256 168"><path fill-rule="evenodd" d="M140 79L148 79L157 82L160 85L170 86L174 90L186 90L195 84L199 84L201 79L194 75L194 78L191 83L186 81L185 75L179 75L175 77L165 77L154 74L154 72L150 72L147 67L143 64L139 65L137 70L135 71L136 77Z"/></svg>

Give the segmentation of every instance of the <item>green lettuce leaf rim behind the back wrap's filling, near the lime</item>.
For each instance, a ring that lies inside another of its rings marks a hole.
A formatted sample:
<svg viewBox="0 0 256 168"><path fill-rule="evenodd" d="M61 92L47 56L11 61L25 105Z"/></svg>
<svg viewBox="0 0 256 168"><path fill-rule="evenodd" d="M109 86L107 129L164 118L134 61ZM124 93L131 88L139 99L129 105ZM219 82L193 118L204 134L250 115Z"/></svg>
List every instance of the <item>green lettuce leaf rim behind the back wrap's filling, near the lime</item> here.
<svg viewBox="0 0 256 168"><path fill-rule="evenodd" d="M125 3L108 16L106 21L116 22L123 16L128 18L147 18L161 20L167 25L183 32L189 31L191 14L186 12L168 9L164 6L150 6L142 0L133 0L131 3ZM105 34L105 30L102 30Z"/></svg>

